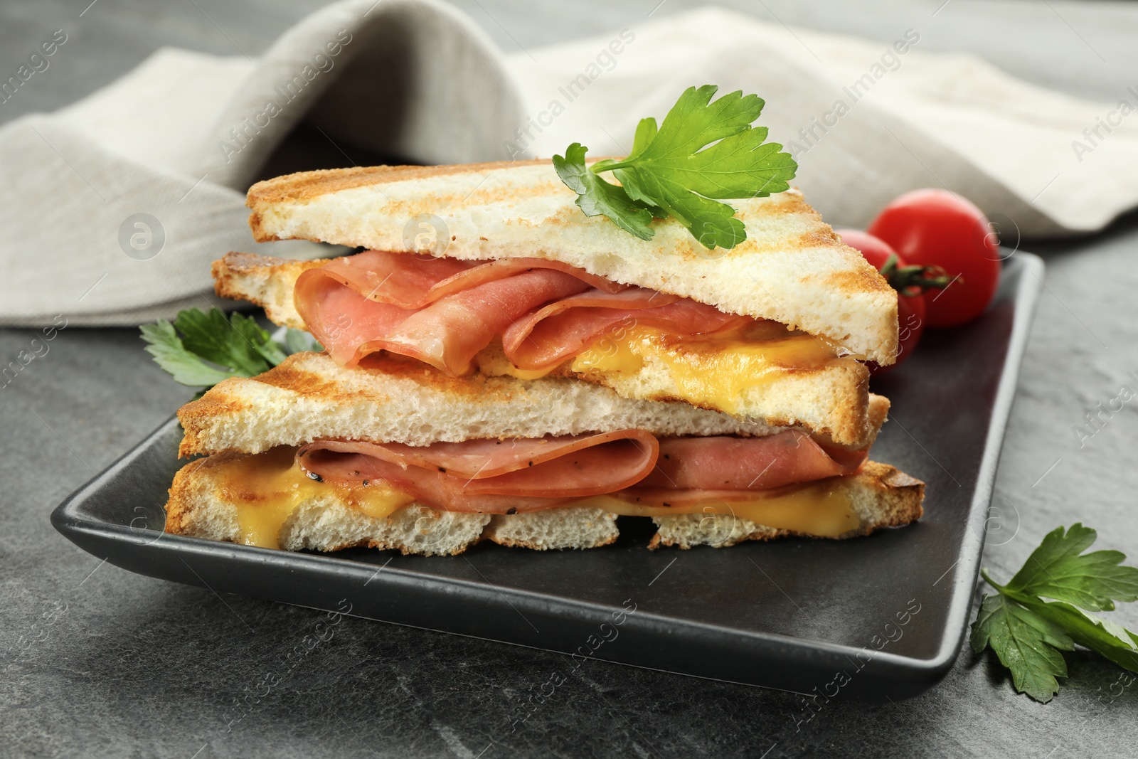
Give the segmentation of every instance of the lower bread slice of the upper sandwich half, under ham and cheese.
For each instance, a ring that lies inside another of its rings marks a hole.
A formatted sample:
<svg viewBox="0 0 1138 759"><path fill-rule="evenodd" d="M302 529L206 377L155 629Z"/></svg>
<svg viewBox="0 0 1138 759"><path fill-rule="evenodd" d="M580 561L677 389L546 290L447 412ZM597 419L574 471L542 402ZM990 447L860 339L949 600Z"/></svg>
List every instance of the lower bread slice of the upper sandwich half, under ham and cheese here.
<svg viewBox="0 0 1138 759"><path fill-rule="evenodd" d="M292 305L292 288L300 272L325 264L327 261L287 261L231 253L214 262L213 274L217 295L249 300L262 306L274 323L305 329ZM708 409L718 407L709 397L693 397L678 385L674 366L685 365L687 355L675 346L659 347L644 357L643 365L635 372L574 372L570 360L554 373L604 385L626 398L684 401ZM512 369L498 345L483 350L477 362L485 374L504 374ZM868 426L867 398L868 371L847 356L817 369L780 372L773 379L747 387L734 398L734 407L728 411L761 424L801 424L841 444L857 445Z"/></svg>

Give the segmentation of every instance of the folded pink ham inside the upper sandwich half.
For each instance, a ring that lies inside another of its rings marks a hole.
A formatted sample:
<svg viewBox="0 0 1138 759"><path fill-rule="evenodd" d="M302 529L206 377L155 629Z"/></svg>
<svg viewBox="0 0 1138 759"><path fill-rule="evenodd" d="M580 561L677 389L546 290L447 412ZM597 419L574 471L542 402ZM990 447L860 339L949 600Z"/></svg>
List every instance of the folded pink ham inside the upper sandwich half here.
<svg viewBox="0 0 1138 759"><path fill-rule="evenodd" d="M464 262L368 250L310 269L296 310L341 366L388 350L452 374L502 336L520 369L552 369L621 323L703 335L753 323L542 258Z"/></svg>

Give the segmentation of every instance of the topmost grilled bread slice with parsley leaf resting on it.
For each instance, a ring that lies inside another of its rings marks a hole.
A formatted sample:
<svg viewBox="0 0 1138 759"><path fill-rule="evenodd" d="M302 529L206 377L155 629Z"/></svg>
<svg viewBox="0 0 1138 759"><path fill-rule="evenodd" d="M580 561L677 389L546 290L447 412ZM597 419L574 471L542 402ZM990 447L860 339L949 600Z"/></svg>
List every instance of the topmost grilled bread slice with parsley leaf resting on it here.
<svg viewBox="0 0 1138 759"><path fill-rule="evenodd" d="M467 261L541 257L825 337L881 364L897 292L790 190L729 200L747 239L707 250L676 220L651 240L585 216L549 160L290 174L249 189L258 241L306 239Z"/></svg>

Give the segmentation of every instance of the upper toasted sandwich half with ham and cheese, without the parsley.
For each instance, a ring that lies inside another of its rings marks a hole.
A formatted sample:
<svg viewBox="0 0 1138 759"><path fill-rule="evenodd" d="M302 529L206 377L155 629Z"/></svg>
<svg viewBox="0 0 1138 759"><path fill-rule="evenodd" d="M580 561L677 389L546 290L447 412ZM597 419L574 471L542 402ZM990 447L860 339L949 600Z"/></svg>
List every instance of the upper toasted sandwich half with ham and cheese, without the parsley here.
<svg viewBox="0 0 1138 759"><path fill-rule="evenodd" d="M711 251L675 218L644 240L574 198L537 160L259 182L257 240L361 251L230 254L215 288L310 331L345 368L402 355L453 377L569 377L866 442L863 362L893 362L897 294L800 192L736 200L748 237Z"/></svg>

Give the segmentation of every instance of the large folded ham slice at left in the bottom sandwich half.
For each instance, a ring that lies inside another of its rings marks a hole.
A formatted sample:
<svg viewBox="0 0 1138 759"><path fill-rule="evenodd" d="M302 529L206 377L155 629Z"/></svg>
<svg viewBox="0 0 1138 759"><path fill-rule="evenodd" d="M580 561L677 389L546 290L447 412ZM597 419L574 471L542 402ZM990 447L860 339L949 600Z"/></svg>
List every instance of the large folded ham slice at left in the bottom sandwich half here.
<svg viewBox="0 0 1138 759"><path fill-rule="evenodd" d="M382 479L451 511L549 509L644 479L659 444L643 430L413 447L346 440L311 443L297 464L321 479Z"/></svg>

